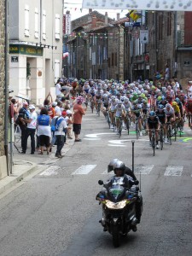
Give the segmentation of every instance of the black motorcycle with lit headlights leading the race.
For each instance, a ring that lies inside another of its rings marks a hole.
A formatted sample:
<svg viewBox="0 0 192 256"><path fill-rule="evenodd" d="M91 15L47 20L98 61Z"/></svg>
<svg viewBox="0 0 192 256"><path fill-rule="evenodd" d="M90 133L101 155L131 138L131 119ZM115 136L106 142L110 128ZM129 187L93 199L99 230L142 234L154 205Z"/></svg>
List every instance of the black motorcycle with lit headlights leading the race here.
<svg viewBox="0 0 192 256"><path fill-rule="evenodd" d="M124 177L113 177L111 185L103 183L102 191L96 195L96 200L102 204L103 231L108 231L113 237L113 247L119 247L120 238L127 236L131 230L137 231L137 204L139 213L143 211L143 200L139 191L138 181L131 182L131 187L125 188ZM139 216L140 219L141 215Z"/></svg>

